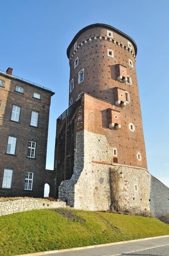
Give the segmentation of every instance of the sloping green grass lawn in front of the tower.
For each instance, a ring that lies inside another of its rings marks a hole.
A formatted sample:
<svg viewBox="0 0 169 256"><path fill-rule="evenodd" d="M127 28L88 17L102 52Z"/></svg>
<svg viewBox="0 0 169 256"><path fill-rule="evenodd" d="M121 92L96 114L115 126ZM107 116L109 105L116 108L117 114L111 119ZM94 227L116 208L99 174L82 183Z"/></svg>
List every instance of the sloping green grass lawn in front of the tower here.
<svg viewBox="0 0 169 256"><path fill-rule="evenodd" d="M0 256L169 235L169 226L154 218L69 211L85 222L50 209L1 216Z"/></svg>

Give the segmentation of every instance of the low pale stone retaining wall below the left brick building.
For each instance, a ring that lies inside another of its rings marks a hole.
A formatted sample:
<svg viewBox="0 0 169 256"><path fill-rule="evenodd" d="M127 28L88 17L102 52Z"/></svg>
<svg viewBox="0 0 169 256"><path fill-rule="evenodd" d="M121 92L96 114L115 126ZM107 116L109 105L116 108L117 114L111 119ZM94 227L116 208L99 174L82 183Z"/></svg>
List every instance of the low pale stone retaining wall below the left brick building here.
<svg viewBox="0 0 169 256"><path fill-rule="evenodd" d="M20 199L14 201L0 202L0 216L17 212L26 212L34 209L50 209L66 207L65 202L54 202L38 199Z"/></svg>

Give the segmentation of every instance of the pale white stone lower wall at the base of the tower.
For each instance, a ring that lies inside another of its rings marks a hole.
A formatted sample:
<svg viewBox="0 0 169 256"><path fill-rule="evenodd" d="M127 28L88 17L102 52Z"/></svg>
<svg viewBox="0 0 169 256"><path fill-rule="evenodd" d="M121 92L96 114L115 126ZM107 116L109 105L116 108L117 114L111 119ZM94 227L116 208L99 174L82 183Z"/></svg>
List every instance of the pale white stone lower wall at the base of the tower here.
<svg viewBox="0 0 169 256"><path fill-rule="evenodd" d="M143 168L122 166L116 173L119 165L111 163L112 156L104 135L78 132L74 173L59 186L59 199L91 211L108 210L115 202L119 209L151 210L155 216L169 213L169 188Z"/></svg>

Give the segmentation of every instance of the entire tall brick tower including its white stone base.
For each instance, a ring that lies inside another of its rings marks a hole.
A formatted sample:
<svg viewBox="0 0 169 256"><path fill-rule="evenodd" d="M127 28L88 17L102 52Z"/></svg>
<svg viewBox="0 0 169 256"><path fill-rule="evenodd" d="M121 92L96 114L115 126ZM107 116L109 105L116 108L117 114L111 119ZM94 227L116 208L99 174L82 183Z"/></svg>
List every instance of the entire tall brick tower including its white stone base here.
<svg viewBox="0 0 169 256"><path fill-rule="evenodd" d="M169 213L169 189L147 170L136 54L135 41L106 24L80 30L68 47L70 107L57 119L55 177L56 196L76 209Z"/></svg>

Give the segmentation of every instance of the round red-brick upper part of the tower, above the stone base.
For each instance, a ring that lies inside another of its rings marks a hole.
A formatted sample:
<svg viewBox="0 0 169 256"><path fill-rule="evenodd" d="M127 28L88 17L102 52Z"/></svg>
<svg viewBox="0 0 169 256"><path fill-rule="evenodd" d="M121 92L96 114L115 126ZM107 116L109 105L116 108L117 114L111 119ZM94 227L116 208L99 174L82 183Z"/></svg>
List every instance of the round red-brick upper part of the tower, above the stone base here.
<svg viewBox="0 0 169 256"><path fill-rule="evenodd" d="M147 169L141 107L135 70L137 46L106 24L80 30L71 41L69 105L87 93L110 102L107 140L118 152L118 164Z"/></svg>

